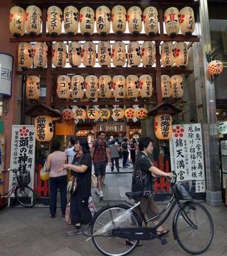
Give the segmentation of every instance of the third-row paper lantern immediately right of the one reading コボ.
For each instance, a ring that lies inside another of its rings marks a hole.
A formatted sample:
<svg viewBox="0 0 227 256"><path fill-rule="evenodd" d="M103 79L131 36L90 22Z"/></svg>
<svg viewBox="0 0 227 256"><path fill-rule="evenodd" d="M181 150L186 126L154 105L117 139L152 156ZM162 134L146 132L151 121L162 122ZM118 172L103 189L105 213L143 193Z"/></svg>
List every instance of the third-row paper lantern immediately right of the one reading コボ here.
<svg viewBox="0 0 227 256"><path fill-rule="evenodd" d="M73 100L83 99L84 88L84 77L79 75L71 77L71 97Z"/></svg>

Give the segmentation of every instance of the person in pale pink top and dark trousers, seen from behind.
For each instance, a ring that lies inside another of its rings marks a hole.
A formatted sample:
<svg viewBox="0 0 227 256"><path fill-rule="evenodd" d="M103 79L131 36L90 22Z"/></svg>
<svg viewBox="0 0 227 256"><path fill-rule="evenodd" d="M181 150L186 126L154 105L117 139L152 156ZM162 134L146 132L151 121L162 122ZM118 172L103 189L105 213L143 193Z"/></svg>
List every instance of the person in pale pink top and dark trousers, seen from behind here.
<svg viewBox="0 0 227 256"><path fill-rule="evenodd" d="M61 195L61 213L62 217L66 214L67 204L67 171L62 170L61 173L57 172L61 168L62 164L67 161L66 154L59 151L61 143L57 140L53 140L50 143L50 154L47 157L47 170L50 170L50 217L55 218L57 209L57 188L60 189Z"/></svg>

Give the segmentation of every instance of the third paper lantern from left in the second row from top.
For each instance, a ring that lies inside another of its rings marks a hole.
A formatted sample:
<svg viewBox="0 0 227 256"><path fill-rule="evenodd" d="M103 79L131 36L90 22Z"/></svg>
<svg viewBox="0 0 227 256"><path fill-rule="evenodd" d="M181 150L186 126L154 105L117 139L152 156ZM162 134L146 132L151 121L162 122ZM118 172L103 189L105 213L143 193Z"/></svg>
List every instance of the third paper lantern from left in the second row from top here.
<svg viewBox="0 0 227 256"><path fill-rule="evenodd" d="M56 68L64 68L66 65L67 48L63 42L55 42L52 49L52 63Z"/></svg>

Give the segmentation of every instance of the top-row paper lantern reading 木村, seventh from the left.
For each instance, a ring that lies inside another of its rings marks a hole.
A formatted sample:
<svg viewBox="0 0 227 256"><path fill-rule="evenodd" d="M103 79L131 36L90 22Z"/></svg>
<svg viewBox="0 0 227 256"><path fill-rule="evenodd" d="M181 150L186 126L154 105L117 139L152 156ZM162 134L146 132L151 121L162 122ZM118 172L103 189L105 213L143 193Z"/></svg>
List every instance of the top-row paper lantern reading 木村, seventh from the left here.
<svg viewBox="0 0 227 256"><path fill-rule="evenodd" d="M116 5L112 9L112 29L115 34L122 35L126 31L126 8Z"/></svg>

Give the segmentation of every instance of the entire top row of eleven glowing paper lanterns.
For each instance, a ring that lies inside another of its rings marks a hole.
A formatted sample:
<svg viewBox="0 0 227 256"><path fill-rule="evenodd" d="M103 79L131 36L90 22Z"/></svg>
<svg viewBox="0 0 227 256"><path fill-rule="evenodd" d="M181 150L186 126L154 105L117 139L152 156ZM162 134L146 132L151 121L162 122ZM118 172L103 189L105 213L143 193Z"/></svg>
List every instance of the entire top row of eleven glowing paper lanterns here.
<svg viewBox="0 0 227 256"><path fill-rule="evenodd" d="M179 31L183 35L194 32L195 20L193 9L189 6L180 10L170 7L165 10L165 28L168 35L177 35ZM92 8L83 7L80 12L75 6L67 6L64 12L57 6L50 6L47 10L47 29L52 36L60 35L62 31L62 20L64 21L64 31L68 35L75 35L80 23L82 35L92 35L94 32L94 20L96 17L96 29L100 35L110 33L112 29L117 35L126 31L128 20L129 32L137 35L142 31L144 23L145 33L147 35L156 35L158 33L158 12L154 6L145 8L142 12L140 7L132 6L126 12L126 8L121 5L114 6L112 11L107 6L99 6L96 9L96 15ZM37 6L28 6L26 11L14 6L10 10L10 31L13 36L24 35L25 30L30 35L38 35L41 31L41 10Z"/></svg>

